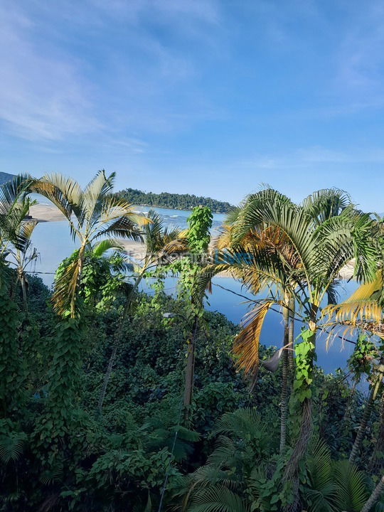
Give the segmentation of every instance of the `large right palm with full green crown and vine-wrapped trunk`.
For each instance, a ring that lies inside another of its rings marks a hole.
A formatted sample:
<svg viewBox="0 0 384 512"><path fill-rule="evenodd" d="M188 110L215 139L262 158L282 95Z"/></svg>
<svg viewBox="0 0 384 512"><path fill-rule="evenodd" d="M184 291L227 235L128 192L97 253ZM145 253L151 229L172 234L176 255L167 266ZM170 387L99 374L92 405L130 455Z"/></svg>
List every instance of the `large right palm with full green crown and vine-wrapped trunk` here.
<svg viewBox="0 0 384 512"><path fill-rule="evenodd" d="M368 214L356 211L348 197L338 191L319 191L297 206L267 188L247 198L232 228L233 248L221 255L218 264L206 269L210 277L215 272L227 271L253 291L270 291L270 297L260 300L247 326L235 339L238 363L248 373L255 371L259 364L260 331L270 306L287 306L287 294L296 299L302 310L306 329L302 343L297 346L300 364L295 382L295 393L302 403L302 422L285 479L296 479L299 460L311 432L312 368L321 304L326 295L335 302L334 283L353 257L356 278L372 279L375 267L372 223ZM277 230L281 244L273 247L245 244L244 240L254 233L261 236L269 230ZM206 279L201 279L201 289Z"/></svg>

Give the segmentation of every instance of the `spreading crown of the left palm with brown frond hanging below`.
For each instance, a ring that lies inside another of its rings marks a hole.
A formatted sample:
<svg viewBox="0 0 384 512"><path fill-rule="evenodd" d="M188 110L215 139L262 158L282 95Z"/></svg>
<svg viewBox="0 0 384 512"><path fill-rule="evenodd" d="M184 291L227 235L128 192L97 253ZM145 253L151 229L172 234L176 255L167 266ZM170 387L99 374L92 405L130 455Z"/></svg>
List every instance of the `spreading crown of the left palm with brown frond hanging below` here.
<svg viewBox="0 0 384 512"><path fill-rule="evenodd" d="M68 220L73 240L78 240L78 257L55 283L53 304L60 316L76 314L76 299L87 247L111 237L142 240L139 226L149 222L137 215L132 205L112 193L114 176L97 172L82 189L73 178L51 174L31 181L29 190L49 199Z"/></svg>

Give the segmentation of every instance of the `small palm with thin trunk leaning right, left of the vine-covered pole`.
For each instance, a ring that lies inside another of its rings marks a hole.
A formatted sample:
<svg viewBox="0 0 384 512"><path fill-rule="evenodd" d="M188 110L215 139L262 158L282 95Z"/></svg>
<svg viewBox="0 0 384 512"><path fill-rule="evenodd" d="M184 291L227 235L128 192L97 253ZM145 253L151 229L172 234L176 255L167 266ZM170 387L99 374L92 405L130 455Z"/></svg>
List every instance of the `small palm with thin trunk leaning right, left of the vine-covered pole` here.
<svg viewBox="0 0 384 512"><path fill-rule="evenodd" d="M170 253L182 252L186 249L187 246L187 240L186 238L181 238L180 230L177 228L172 229L164 226L164 221L162 220L161 216L154 210L149 210L148 218L151 222L144 225L145 254L142 258L142 261L137 262L134 265L134 270L136 270L136 278L134 279L134 284L132 285L131 289L129 289L129 294L127 295L124 312L122 319L119 321L119 328L117 329L116 336L114 338L110 361L108 362L107 370L105 372L102 388L100 391L100 398L97 404L97 411L100 416L102 415L102 405L107 393L107 385L110 381L117 349L122 343L125 321L127 320L129 312L132 310L133 299L137 289L139 288L140 282L142 282L146 272L149 272L149 270L152 268L161 265L163 262L167 262L167 256Z"/></svg>

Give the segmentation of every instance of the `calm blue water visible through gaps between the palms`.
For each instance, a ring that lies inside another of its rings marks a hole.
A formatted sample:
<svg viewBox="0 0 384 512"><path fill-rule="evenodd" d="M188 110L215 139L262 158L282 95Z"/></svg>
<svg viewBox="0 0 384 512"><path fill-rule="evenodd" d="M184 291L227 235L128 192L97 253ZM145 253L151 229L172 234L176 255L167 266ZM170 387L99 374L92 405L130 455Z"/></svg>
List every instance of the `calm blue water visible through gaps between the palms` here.
<svg viewBox="0 0 384 512"><path fill-rule="evenodd" d="M138 206L137 211L147 212L150 208ZM183 210L169 210L166 208L154 208L158 213L164 217L164 222L167 225L178 226L179 228L186 228L186 219L190 212ZM213 230L216 230L223 222L223 214L214 214ZM31 267L32 272L44 272L39 274L43 282L50 286L53 282L53 273L58 267L60 261L69 256L75 249L76 245L70 237L68 224L62 222L47 222L39 223L33 232L33 245L38 247L40 251L40 260L34 263ZM207 309L210 311L219 311L225 314L230 321L239 324L244 315L250 309L250 303L242 297L228 292L223 289L230 289L233 292L243 294L250 299L255 298L242 288L240 282L236 282L229 277L216 277L213 279L213 293L208 297ZM166 291L169 294L176 292L176 279L167 278L165 282ZM149 283L143 284L143 289L151 293ZM354 282L341 282L339 287L339 296L341 299L348 297L353 290L356 289ZM260 296L258 296L260 297ZM299 335L300 325L299 322L295 326L296 335ZM260 342L267 346L282 346L283 326L282 315L269 311L262 328ZM353 345L348 342L341 341L336 338L334 342L326 348L326 335L321 334L318 336L316 342L316 351L318 354L318 363L326 372L336 370L336 368L345 368L346 360L353 351Z"/></svg>

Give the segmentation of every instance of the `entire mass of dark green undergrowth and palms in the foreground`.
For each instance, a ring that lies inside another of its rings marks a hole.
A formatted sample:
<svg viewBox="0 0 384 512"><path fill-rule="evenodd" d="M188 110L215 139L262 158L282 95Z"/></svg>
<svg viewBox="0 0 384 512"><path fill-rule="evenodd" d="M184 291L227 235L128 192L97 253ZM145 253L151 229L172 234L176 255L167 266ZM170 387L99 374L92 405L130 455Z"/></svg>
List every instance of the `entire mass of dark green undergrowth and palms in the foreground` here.
<svg viewBox="0 0 384 512"><path fill-rule="evenodd" d="M187 233L168 230L114 196L113 179L82 190L19 177L0 190L0 511L383 511L382 221L341 191L297 206L265 189L231 214L210 258L209 208ZM31 191L78 243L53 292L28 274ZM127 261L117 237L142 239L143 260ZM353 257L361 286L338 304ZM203 307L223 271L255 294L241 328ZM273 304L277 351L259 346ZM358 332L347 373L316 366L322 329Z"/></svg>

